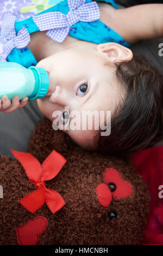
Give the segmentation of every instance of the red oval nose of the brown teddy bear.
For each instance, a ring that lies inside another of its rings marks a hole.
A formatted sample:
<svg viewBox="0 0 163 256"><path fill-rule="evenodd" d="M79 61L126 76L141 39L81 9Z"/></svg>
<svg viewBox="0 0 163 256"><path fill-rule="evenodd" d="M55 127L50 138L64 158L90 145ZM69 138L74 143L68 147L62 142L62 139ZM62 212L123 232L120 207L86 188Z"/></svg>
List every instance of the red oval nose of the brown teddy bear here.
<svg viewBox="0 0 163 256"><path fill-rule="evenodd" d="M99 203L104 207L108 207L112 199L112 194L108 186L105 183L98 184L96 193Z"/></svg>

